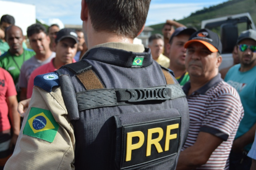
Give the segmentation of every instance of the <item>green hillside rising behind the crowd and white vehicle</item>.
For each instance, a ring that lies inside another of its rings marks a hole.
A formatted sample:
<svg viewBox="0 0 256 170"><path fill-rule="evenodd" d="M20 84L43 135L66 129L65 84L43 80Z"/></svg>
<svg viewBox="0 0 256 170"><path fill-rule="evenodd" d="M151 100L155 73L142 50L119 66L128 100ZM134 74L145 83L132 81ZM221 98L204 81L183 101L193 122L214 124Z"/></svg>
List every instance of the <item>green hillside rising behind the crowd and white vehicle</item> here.
<svg viewBox="0 0 256 170"><path fill-rule="evenodd" d="M255 0L229 0L216 6L211 6L208 8L205 7L202 10L197 10L196 12L190 14L189 17L183 18L182 20L177 20L177 22L186 26L194 26L195 28L200 29L202 20L249 12L249 14L252 16L252 20L254 23L256 23L255 7ZM151 25L150 27L154 29L152 34L161 34L163 25L164 23Z"/></svg>

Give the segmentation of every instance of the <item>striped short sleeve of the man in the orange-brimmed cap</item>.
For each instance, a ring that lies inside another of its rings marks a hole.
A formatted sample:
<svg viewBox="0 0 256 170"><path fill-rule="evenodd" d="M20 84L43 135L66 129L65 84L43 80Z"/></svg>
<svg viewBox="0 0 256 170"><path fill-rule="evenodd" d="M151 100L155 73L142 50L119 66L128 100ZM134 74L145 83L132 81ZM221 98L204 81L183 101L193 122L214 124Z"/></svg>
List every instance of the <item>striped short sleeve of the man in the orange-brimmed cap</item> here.
<svg viewBox="0 0 256 170"><path fill-rule="evenodd" d="M200 131L213 134L224 141L228 140L234 129L238 127L244 113L239 96L236 95L221 94L212 99Z"/></svg>

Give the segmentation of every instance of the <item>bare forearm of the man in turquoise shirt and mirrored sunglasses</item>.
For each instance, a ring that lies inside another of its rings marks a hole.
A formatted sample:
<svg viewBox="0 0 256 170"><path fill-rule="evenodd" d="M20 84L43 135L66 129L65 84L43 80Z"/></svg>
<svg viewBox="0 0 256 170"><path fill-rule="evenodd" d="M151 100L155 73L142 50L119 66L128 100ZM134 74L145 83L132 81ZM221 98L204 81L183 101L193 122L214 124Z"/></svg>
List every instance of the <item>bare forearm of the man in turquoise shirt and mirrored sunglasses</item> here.
<svg viewBox="0 0 256 170"><path fill-rule="evenodd" d="M254 126L250 128L248 132L246 132L244 135L234 140L232 151L235 153L242 153L246 145L254 142L255 130L256 130L256 123L254 124Z"/></svg>

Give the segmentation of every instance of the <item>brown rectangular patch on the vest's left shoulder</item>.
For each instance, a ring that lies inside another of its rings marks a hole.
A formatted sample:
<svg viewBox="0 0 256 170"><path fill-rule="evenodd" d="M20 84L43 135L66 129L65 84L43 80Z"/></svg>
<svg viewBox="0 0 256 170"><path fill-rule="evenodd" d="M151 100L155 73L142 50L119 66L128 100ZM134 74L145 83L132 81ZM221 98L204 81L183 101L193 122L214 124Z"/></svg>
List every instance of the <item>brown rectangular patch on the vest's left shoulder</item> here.
<svg viewBox="0 0 256 170"><path fill-rule="evenodd" d="M80 73L79 75L77 75L77 78L79 78L87 91L92 89L105 89L100 81L100 78L98 78L98 76L92 69Z"/></svg>

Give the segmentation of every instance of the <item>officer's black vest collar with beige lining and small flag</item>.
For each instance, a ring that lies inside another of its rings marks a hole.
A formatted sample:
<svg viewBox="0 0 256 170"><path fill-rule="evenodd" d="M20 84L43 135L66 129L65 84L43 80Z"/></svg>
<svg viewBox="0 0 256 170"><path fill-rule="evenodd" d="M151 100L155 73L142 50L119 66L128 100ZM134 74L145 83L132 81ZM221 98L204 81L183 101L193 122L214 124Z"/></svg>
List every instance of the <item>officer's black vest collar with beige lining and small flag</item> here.
<svg viewBox="0 0 256 170"><path fill-rule="evenodd" d="M151 51L142 44L108 42L94 46L83 55L82 59L117 65L126 68L140 68L151 65Z"/></svg>

